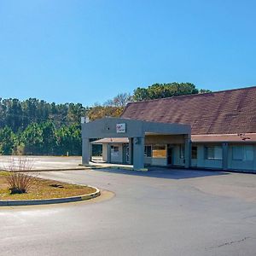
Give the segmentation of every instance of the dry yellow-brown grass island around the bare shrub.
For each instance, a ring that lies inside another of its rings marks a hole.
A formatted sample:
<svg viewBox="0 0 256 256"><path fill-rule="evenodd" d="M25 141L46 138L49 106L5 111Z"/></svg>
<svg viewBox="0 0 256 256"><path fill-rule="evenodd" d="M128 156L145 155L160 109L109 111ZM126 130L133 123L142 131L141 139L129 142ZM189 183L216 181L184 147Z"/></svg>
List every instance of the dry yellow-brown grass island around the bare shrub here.
<svg viewBox="0 0 256 256"><path fill-rule="evenodd" d="M36 177L27 193L10 195L6 180L6 176L8 175L9 172L0 172L0 200L50 199L86 195L96 192L96 189L90 187Z"/></svg>

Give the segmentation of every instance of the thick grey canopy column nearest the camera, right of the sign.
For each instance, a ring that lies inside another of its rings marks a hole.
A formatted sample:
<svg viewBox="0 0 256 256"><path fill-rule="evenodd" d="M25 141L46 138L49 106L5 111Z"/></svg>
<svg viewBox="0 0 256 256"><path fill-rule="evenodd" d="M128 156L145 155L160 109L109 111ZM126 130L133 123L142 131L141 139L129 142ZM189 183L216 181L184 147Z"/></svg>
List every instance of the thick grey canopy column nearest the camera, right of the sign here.
<svg viewBox="0 0 256 256"><path fill-rule="evenodd" d="M133 138L133 168L135 170L144 168L144 137Z"/></svg>

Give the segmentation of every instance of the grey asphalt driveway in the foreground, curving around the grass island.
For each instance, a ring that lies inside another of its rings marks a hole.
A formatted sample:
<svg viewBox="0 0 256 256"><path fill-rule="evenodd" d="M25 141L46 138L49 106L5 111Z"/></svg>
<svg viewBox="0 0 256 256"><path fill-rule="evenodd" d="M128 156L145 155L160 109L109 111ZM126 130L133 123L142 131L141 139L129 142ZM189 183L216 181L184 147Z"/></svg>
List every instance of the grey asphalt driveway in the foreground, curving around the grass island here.
<svg viewBox="0 0 256 256"><path fill-rule="evenodd" d="M1 255L255 255L256 175L159 169L41 176L115 196L0 208Z"/></svg>

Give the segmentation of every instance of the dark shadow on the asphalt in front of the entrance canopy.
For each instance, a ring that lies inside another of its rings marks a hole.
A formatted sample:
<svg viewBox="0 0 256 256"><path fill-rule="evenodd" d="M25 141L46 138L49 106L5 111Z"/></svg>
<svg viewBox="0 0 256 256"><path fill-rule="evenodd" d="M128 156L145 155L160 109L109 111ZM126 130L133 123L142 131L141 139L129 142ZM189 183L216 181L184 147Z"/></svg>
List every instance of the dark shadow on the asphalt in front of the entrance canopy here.
<svg viewBox="0 0 256 256"><path fill-rule="evenodd" d="M192 177L207 177L207 176L219 176L219 175L228 175L228 172L219 172L219 171L200 171L200 170L184 170L176 168L165 168L165 167L153 167L148 168L148 172L141 171L131 171L124 169L111 169L111 168L102 168L94 169L93 172L111 172L119 173L133 176L143 176L143 177L160 177L160 178L170 178L170 179L184 179Z"/></svg>

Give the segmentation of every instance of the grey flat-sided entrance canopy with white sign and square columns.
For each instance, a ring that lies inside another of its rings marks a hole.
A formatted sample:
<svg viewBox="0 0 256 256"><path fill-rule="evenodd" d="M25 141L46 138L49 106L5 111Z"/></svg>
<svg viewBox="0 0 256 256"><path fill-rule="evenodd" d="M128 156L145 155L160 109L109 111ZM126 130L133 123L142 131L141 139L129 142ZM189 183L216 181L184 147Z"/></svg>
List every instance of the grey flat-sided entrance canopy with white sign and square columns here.
<svg viewBox="0 0 256 256"><path fill-rule="evenodd" d="M147 122L135 119L103 118L82 124L83 164L88 165L91 157L90 139L120 138L129 139L131 164L134 169L144 168L145 137L159 135L183 135L185 146L185 166L189 167L190 125Z"/></svg>

